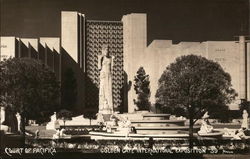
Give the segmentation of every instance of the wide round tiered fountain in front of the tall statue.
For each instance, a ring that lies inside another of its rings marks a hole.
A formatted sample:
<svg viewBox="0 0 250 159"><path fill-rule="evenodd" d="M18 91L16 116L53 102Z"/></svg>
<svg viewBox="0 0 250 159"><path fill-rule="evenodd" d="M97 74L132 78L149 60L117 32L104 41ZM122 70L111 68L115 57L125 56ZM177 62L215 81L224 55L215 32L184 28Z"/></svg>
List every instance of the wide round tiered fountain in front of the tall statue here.
<svg viewBox="0 0 250 159"><path fill-rule="evenodd" d="M127 115L127 116L126 116ZM118 126L112 125L110 121L105 123L111 131L91 131L91 139L94 140L169 140L174 138L188 138L189 126L185 125L184 117L174 117L170 114L113 114L118 120ZM130 118L129 118L130 117ZM171 117L171 118L170 118ZM200 126L194 126L197 133ZM105 129L106 130L106 129ZM136 133L135 133L136 132Z"/></svg>

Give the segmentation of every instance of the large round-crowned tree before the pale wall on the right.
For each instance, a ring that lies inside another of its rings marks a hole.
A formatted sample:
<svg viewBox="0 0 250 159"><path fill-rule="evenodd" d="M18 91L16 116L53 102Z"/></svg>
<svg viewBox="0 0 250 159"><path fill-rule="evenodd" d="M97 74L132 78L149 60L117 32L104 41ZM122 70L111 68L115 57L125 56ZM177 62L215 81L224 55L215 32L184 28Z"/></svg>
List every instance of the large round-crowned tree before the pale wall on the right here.
<svg viewBox="0 0 250 159"><path fill-rule="evenodd" d="M156 102L162 108L182 108L190 122L190 147L193 125L208 111L231 103L237 93L231 77L222 67L201 56L181 56L171 63L159 79Z"/></svg>

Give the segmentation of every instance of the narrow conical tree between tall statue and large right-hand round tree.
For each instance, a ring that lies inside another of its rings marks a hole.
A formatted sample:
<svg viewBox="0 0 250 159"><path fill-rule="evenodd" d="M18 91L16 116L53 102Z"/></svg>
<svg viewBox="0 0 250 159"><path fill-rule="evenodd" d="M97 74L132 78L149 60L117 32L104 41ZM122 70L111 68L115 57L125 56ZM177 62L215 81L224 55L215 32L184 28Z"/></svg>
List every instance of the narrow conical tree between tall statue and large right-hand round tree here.
<svg viewBox="0 0 250 159"><path fill-rule="evenodd" d="M134 103L139 110L149 110L150 102L150 89L149 89L149 75L146 74L143 67L140 67L134 78L134 90L137 94L137 100L134 99Z"/></svg>

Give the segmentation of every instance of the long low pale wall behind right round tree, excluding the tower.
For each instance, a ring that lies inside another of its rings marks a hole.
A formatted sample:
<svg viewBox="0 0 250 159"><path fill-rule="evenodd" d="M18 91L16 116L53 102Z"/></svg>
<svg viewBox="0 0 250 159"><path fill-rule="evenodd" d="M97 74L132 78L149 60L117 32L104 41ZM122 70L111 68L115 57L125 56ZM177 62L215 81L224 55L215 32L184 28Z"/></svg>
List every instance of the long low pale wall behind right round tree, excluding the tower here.
<svg viewBox="0 0 250 159"><path fill-rule="evenodd" d="M239 93L247 88L241 86L239 44L235 41L208 41L208 42L181 42L173 45L171 41L154 40L145 51L143 66L150 76L151 102L155 103L155 94L158 89L158 80L166 67L182 55L201 55L218 62L232 77L232 86ZM241 72L242 73L242 72ZM242 90L243 89L243 90ZM231 105L236 109L239 100Z"/></svg>

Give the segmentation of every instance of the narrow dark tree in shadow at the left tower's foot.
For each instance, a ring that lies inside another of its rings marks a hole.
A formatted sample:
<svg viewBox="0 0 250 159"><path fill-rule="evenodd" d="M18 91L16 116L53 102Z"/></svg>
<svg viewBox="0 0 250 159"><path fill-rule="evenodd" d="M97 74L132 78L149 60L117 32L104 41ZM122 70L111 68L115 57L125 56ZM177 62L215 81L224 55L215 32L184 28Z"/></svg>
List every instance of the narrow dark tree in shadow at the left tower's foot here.
<svg viewBox="0 0 250 159"><path fill-rule="evenodd" d="M64 73L62 82L62 106L64 109L71 110L75 107L77 101L77 81L75 73L68 68Z"/></svg>

